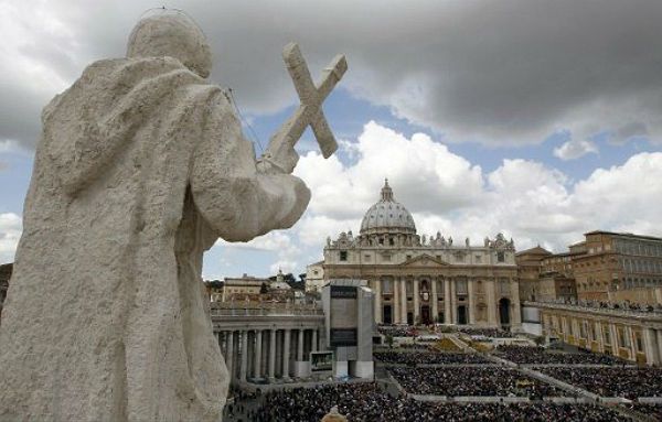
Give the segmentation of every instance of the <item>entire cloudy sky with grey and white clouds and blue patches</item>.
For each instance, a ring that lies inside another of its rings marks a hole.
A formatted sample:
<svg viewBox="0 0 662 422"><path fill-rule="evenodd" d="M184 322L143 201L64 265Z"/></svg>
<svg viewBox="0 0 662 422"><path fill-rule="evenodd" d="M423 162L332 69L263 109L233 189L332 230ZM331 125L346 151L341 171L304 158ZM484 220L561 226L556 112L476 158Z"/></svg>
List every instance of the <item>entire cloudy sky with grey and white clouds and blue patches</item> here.
<svg viewBox="0 0 662 422"><path fill-rule="evenodd" d="M210 79L233 89L257 153L296 105L287 42L313 77L338 53L350 66L325 104L339 153L323 160L310 131L299 144L303 218L220 241L206 278L303 272L327 236L359 230L384 177L420 234L555 251L592 229L662 236L662 1L0 0L0 262L21 235L41 108L122 56L163 3L206 33Z"/></svg>

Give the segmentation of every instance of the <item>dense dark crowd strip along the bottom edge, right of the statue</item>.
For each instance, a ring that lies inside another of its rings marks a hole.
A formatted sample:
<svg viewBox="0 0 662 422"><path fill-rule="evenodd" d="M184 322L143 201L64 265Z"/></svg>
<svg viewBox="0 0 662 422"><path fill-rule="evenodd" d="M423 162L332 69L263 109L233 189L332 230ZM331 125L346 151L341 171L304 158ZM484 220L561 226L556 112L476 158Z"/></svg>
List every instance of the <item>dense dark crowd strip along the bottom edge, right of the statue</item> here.
<svg viewBox="0 0 662 422"><path fill-rule="evenodd" d="M250 415L256 422L319 422L333 407L350 422L403 421L627 421L595 404L429 403L391 396L376 383L318 386L268 393Z"/></svg>

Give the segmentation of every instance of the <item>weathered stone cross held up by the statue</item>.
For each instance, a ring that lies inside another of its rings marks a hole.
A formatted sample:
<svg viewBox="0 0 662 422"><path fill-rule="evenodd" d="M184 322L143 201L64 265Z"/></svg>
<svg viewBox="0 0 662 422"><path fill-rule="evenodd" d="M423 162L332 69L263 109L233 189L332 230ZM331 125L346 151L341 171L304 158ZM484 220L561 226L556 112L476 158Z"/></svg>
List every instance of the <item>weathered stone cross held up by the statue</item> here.
<svg viewBox="0 0 662 422"><path fill-rule="evenodd" d="M263 160L275 160L279 166L290 164L280 162L287 155L282 150L291 149L301 138L308 126L311 127L314 133L322 155L328 159L338 149L338 143L335 142L333 132L329 128L321 106L348 69L345 56L340 54L333 58L329 67L322 72L321 82L317 86L312 82L299 45L296 43L287 44L282 48L282 59L287 65L287 71L292 78L301 104L295 113L271 137Z"/></svg>

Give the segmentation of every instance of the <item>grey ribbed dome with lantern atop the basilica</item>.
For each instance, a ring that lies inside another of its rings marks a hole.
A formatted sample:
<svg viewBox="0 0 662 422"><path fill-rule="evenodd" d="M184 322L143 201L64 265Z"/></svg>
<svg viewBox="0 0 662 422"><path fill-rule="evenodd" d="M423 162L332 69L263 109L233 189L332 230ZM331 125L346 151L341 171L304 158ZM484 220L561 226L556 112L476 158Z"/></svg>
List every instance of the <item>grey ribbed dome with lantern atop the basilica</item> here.
<svg viewBox="0 0 662 422"><path fill-rule="evenodd" d="M412 214L393 198L388 180L382 187L382 198L367 209L361 221L361 235L377 232L416 234Z"/></svg>

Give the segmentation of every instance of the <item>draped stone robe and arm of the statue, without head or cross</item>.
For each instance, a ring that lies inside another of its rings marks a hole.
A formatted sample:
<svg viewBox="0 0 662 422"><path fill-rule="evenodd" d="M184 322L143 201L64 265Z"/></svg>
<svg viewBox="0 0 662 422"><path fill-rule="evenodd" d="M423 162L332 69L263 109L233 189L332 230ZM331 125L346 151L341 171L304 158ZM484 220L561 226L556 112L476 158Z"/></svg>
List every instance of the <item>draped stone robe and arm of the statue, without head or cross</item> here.
<svg viewBox="0 0 662 422"><path fill-rule="evenodd" d="M228 375L202 252L291 226L308 191L258 174L223 91L174 58L96 62L42 122L0 420L218 420Z"/></svg>

